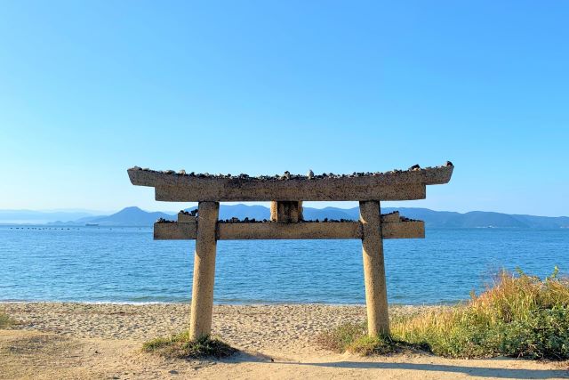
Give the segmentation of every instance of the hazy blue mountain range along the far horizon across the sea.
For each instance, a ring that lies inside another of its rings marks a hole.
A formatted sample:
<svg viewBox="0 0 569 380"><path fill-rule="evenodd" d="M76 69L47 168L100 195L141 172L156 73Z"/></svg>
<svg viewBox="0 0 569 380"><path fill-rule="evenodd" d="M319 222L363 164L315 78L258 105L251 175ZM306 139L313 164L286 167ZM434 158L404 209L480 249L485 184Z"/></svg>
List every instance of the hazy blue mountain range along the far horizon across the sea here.
<svg viewBox="0 0 569 380"><path fill-rule="evenodd" d="M196 207L190 207L191 211ZM433 229L470 229L470 228L509 228L509 229L569 229L569 217L533 216L521 214L501 214L485 211L456 213L450 211L434 211L429 208L416 207L385 207L382 213L399 210L406 217L425 221L427 228ZM349 219L357 220L358 207L353 208L312 208L304 207L306 220ZM260 205L221 205L220 219L255 218L269 219L270 211ZM175 219L176 214L163 212L148 212L139 207L125 207L115 214L93 215L86 212L40 212L30 210L0 210L1 224L28 223L50 225L84 226L151 226L159 218Z"/></svg>

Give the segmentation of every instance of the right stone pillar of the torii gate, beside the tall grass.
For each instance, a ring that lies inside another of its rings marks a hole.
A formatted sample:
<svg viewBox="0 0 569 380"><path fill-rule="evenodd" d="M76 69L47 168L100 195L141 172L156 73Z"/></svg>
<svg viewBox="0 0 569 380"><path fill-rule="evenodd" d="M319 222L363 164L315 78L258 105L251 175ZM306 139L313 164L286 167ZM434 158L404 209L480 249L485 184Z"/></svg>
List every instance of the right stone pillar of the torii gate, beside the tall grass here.
<svg viewBox="0 0 569 380"><path fill-rule="evenodd" d="M389 335L388 291L381 238L379 201L359 202L364 256L365 304L369 336Z"/></svg>

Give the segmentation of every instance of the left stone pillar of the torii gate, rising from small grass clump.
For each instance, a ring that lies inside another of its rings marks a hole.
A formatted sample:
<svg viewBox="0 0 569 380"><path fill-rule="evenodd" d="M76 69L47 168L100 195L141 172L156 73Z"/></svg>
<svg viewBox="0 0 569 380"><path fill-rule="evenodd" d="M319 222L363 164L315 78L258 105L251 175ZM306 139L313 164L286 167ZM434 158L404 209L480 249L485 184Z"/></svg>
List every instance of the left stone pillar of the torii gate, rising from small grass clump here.
<svg viewBox="0 0 569 380"><path fill-rule="evenodd" d="M189 339L196 341L212 332L213 284L215 282L216 223L219 202L199 202L197 206L196 254L189 319Z"/></svg>

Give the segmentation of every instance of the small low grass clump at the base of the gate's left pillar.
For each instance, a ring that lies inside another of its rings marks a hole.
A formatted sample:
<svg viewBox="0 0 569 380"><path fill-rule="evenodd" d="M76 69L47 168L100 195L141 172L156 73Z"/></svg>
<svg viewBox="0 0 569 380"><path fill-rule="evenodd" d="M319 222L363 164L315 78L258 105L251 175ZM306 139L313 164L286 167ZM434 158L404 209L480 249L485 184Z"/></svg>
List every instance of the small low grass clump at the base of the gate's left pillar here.
<svg viewBox="0 0 569 380"><path fill-rule="evenodd" d="M168 358L226 358L236 349L219 339L205 336L197 341L189 340L189 332L184 331L169 337L159 337L142 345L145 352L155 352Z"/></svg>

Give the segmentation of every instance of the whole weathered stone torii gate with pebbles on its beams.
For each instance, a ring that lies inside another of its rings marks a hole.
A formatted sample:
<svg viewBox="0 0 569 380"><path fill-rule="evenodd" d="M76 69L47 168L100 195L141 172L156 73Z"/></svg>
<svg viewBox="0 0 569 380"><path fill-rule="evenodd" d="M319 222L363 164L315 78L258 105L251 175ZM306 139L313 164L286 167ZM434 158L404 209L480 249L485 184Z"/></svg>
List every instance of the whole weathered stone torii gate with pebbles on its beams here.
<svg viewBox="0 0 569 380"><path fill-rule="evenodd" d="M212 329L217 240L361 239L365 303L370 336L389 334L383 239L425 237L424 222L381 214L381 200L426 198L426 185L451 179L453 164L386 173L250 177L128 169L133 185L155 188L156 200L198 202L197 215L180 212L178 221L154 224L154 239L196 239L189 334L192 340ZM305 222L302 201L359 201L359 221ZM270 221L219 221L220 202L270 201Z"/></svg>

